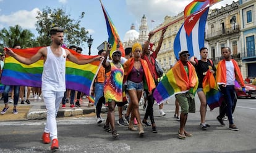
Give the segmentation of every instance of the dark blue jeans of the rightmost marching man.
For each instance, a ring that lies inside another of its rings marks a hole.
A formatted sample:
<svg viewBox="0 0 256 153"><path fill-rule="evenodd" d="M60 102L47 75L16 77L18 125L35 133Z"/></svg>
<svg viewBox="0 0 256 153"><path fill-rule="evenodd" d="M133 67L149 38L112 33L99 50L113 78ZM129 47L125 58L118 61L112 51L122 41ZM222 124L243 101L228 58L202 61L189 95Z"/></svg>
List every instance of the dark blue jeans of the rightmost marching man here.
<svg viewBox="0 0 256 153"><path fill-rule="evenodd" d="M234 85L227 85L226 87L222 87L220 85L220 91L223 94L225 100L223 101L223 104L221 104L220 107L220 117L224 117L226 114L228 116L229 125L234 124L232 119L232 107L234 105Z"/></svg>

